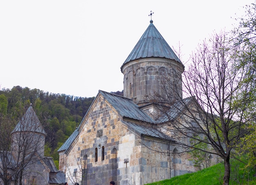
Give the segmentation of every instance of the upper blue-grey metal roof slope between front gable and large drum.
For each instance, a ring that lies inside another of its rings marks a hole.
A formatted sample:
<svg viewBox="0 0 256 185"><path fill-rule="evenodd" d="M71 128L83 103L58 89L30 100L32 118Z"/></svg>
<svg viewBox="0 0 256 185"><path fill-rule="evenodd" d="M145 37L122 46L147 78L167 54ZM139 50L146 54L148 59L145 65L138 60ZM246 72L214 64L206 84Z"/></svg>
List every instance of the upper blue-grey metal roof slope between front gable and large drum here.
<svg viewBox="0 0 256 185"><path fill-rule="evenodd" d="M119 112L122 117L154 123L155 121L147 115L132 99L128 99L112 93L99 90L99 93Z"/></svg>

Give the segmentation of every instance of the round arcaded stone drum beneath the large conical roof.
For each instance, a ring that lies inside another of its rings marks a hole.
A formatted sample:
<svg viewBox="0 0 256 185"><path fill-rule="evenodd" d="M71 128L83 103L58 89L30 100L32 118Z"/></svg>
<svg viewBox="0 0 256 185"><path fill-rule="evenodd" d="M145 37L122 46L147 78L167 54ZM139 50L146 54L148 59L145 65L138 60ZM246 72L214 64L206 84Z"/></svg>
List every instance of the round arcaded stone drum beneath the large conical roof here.
<svg viewBox="0 0 256 185"><path fill-rule="evenodd" d="M183 70L182 64L170 59L150 57L129 62L122 67L124 97L142 106L155 101L154 94L161 93L163 86L169 86L168 92L165 88L162 94L171 95L172 101L176 101L175 97L182 97ZM169 81L163 84L167 78ZM168 84L170 81L172 83Z"/></svg>

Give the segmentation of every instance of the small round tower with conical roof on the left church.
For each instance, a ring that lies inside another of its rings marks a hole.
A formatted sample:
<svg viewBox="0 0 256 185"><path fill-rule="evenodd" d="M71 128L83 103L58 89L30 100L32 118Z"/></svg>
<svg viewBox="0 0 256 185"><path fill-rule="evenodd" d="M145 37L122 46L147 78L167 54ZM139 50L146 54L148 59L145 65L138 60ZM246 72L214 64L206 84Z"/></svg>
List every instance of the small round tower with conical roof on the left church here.
<svg viewBox="0 0 256 185"><path fill-rule="evenodd" d="M18 159L35 153L44 156L45 130L30 104L29 108L11 132L13 156Z"/></svg>

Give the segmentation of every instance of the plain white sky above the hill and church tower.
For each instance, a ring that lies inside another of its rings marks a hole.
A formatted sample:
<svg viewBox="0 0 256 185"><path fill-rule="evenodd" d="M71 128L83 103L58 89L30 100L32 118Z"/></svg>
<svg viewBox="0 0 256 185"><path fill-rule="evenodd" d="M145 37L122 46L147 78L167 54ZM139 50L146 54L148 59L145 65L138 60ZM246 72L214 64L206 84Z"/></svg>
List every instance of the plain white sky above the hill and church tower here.
<svg viewBox="0 0 256 185"><path fill-rule="evenodd" d="M81 97L123 90L120 67L150 24L191 51L253 0L0 0L0 88ZM186 64L185 64L186 66ZM185 68L186 70L186 68Z"/></svg>

